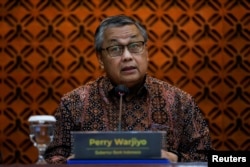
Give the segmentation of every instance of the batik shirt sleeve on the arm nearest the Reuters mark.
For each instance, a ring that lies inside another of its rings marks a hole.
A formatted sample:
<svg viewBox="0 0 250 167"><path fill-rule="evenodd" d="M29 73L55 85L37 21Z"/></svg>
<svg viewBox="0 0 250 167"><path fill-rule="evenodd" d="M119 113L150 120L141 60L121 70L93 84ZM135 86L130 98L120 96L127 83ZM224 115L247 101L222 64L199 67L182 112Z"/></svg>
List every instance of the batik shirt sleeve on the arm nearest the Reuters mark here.
<svg viewBox="0 0 250 167"><path fill-rule="evenodd" d="M195 101L191 99L185 106L186 117L181 142L177 152L180 161L207 161L212 149L208 124Z"/></svg>

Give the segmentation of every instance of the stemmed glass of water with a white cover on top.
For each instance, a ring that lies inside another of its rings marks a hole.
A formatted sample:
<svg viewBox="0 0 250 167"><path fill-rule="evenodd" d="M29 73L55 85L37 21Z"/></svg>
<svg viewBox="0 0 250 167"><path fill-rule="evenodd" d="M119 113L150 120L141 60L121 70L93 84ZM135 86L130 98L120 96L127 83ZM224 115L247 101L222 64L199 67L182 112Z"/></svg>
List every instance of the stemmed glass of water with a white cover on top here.
<svg viewBox="0 0 250 167"><path fill-rule="evenodd" d="M54 124L56 119L51 115L32 115L29 117L30 140L38 149L36 164L46 164L43 154L48 144L53 140Z"/></svg>

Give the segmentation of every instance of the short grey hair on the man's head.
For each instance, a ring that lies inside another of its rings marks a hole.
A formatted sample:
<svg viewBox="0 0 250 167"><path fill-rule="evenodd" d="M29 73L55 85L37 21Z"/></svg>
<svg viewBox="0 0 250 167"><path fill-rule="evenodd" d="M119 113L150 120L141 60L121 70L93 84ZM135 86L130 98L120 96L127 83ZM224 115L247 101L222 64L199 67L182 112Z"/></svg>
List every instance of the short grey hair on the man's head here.
<svg viewBox="0 0 250 167"><path fill-rule="evenodd" d="M125 16L125 15L116 15L116 16L110 16L104 19L99 27L97 27L95 32L95 51L100 54L102 51L102 43L104 41L104 31L107 28L110 27L121 27L125 25L135 25L139 31L141 32L141 35L144 38L144 42L146 43L148 40L148 34L146 28L138 21L132 19L131 17Z"/></svg>

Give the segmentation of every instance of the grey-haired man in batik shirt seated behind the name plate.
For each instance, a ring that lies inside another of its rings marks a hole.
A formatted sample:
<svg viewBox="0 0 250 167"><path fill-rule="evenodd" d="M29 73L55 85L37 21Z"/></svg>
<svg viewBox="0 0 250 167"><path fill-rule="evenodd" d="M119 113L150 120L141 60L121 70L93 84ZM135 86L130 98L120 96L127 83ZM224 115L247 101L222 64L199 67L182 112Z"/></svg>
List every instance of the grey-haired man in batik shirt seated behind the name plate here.
<svg viewBox="0 0 250 167"><path fill-rule="evenodd" d="M172 162L207 161L211 143L203 115L189 94L147 75L147 40L145 28L127 16L101 22L95 50L106 75L62 98L55 114L55 137L45 152L49 163L65 163L70 156L70 131L117 130L117 85L129 89L123 101L122 130L164 130L162 157Z"/></svg>

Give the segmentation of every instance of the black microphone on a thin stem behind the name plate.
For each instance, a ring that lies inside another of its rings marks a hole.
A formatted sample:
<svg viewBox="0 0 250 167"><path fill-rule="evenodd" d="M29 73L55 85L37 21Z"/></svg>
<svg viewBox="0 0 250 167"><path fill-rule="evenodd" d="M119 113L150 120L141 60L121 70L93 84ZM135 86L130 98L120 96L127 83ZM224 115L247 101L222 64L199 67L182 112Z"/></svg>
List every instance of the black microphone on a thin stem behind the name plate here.
<svg viewBox="0 0 250 167"><path fill-rule="evenodd" d="M118 131L121 131L121 124L122 124L122 97L126 96L128 93L129 89L125 85L118 85L115 87L115 94L120 97Z"/></svg>

